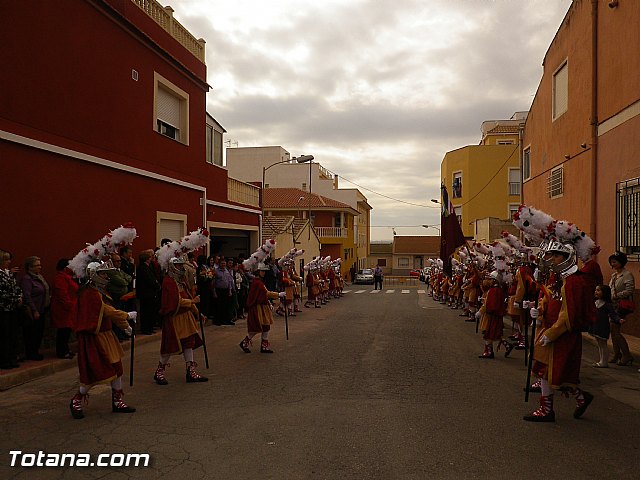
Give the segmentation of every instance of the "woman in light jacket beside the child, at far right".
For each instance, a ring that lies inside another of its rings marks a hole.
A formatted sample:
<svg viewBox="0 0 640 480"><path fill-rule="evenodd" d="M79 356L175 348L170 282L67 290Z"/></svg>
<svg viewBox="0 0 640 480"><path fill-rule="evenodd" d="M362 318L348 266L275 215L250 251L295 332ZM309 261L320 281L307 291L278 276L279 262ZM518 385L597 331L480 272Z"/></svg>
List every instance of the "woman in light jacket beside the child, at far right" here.
<svg viewBox="0 0 640 480"><path fill-rule="evenodd" d="M620 316L620 323L611 322L611 343L613 343L613 356L609 363L617 363L621 367L631 365L633 357L629 353L629 345L620 333L620 328L625 322L625 317L631 313L623 308L624 303L633 302L633 291L635 290L635 279L633 274L624 268L627 264L627 256L622 252L616 252L609 257L609 265L613 269L613 275L609 280L611 287L611 300Z"/></svg>

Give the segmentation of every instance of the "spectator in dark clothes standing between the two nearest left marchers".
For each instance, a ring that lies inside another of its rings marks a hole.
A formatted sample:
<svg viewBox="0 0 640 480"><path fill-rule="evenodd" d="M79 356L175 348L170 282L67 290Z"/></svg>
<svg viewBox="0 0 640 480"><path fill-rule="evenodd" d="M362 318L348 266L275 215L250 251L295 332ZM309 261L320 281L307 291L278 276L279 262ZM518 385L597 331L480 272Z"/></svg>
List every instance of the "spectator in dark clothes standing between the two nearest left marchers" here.
<svg viewBox="0 0 640 480"><path fill-rule="evenodd" d="M138 277L136 279L136 297L140 301L140 332L153 335L160 310L160 291L162 286L151 265L155 258L153 250L143 250L138 256Z"/></svg>

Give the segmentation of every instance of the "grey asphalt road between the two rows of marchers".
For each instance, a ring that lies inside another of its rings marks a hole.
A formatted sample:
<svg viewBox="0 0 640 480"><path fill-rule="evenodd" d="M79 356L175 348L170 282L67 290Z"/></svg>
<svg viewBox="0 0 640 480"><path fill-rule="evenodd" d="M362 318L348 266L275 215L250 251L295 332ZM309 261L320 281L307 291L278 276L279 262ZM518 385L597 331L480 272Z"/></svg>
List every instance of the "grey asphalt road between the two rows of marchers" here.
<svg viewBox="0 0 640 480"><path fill-rule="evenodd" d="M422 287L372 288L305 309L290 319L288 341L278 317L273 355L257 342L244 354L243 325L208 327L209 370L196 354L208 383L186 384L183 360L172 357L170 384L155 385L159 344L137 348L133 388L125 375L132 415L112 414L103 386L91 391L86 417L72 420L74 370L0 393L0 478L639 478L636 368L591 368L596 349L585 343L583 386L595 400L584 418L556 395L555 424L527 423L537 395L524 403L522 352L480 360L482 340L459 311ZM11 450L151 461L10 467Z"/></svg>

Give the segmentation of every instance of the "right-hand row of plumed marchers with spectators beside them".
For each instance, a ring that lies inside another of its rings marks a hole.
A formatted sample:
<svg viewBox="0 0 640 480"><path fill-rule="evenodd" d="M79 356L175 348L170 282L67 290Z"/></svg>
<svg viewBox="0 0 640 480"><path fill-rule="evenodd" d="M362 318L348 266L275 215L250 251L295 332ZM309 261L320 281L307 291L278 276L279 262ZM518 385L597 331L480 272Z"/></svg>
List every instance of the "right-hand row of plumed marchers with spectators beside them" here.
<svg viewBox="0 0 640 480"><path fill-rule="evenodd" d="M449 265L432 260L429 295L462 309L465 321L476 324L484 343L480 359L495 359L502 347L505 357L514 349L525 351L528 378L533 380L525 388L527 394L540 392L540 406L524 420L555 421L554 392L573 396L573 416L581 418L594 398L580 387L583 332L598 346L595 368L633 363L620 333L635 309L633 274L624 268L626 255L615 252L608 258L612 274L605 284L595 260L599 247L571 223L523 205L514 225L527 243L539 247L527 247L503 232L501 241L458 250ZM513 334L506 338L504 318L513 325Z"/></svg>

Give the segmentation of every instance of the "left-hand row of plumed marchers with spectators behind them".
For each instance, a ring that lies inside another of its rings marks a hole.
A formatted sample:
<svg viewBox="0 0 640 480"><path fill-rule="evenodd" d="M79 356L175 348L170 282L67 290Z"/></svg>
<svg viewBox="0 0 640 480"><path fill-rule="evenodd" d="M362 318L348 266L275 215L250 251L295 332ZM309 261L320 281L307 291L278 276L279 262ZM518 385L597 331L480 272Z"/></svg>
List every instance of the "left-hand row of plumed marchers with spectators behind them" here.
<svg viewBox="0 0 640 480"><path fill-rule="evenodd" d="M273 353L273 312L299 315L305 285L306 308L321 308L342 296L340 259L314 258L304 267L303 277L295 266L303 251L293 249L276 259L272 240L248 259L196 256L208 244L208 233L199 229L142 250L136 265L131 246L135 237L132 225L121 226L73 259L60 259L51 287L42 276L39 257L28 257L19 275L11 254L0 251L0 368L16 368L25 359L41 361L43 331L50 318L56 328L57 357L77 355L80 385L69 404L75 419L84 418L89 390L102 383L111 385L114 413L135 412L123 399L121 346L135 331L151 335L162 329L153 374L158 385L169 384L167 368L173 355L183 356L187 383L206 382L196 371L194 350L203 346L207 321L234 325L246 319L242 351L251 353L252 339L260 334L260 352ZM23 352L18 351L19 332ZM70 348L72 333L76 352Z"/></svg>

